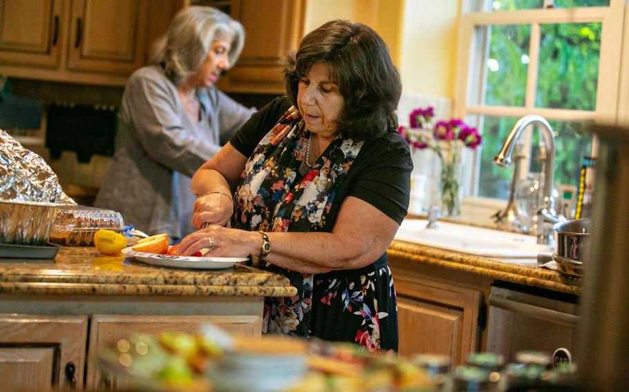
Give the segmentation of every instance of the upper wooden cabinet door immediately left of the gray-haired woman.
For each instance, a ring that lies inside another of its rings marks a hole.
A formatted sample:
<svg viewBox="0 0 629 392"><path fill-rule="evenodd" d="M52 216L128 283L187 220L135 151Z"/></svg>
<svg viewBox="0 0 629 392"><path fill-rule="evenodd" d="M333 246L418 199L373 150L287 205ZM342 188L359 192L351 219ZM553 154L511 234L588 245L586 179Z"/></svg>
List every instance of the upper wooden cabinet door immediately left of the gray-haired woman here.
<svg viewBox="0 0 629 392"><path fill-rule="evenodd" d="M144 64L147 0L73 0L68 69L129 75Z"/></svg>

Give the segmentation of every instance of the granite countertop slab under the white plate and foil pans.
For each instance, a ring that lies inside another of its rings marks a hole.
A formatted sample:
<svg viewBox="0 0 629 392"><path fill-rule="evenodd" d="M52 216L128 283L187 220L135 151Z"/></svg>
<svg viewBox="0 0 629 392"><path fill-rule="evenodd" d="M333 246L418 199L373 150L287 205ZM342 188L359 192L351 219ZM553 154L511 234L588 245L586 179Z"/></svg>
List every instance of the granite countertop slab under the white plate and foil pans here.
<svg viewBox="0 0 629 392"><path fill-rule="evenodd" d="M168 268L94 247L61 247L55 259L0 259L0 293L290 297L297 289L286 277L243 264Z"/></svg>

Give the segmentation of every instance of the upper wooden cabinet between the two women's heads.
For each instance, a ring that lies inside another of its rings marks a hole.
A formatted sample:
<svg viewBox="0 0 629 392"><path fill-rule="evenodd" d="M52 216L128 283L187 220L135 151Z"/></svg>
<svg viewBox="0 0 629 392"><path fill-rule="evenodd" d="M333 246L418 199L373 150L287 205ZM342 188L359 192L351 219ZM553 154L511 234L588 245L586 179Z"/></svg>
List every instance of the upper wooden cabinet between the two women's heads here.
<svg viewBox="0 0 629 392"><path fill-rule="evenodd" d="M218 86L233 92L283 93L278 60L303 35L304 0L234 0L232 17L245 27L240 59Z"/></svg>

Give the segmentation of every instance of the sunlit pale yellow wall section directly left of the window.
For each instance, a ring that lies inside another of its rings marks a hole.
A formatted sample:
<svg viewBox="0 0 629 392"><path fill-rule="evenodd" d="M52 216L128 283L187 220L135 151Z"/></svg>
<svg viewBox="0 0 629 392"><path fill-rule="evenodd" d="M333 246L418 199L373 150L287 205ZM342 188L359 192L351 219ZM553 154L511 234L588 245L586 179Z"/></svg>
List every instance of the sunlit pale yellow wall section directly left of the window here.
<svg viewBox="0 0 629 392"><path fill-rule="evenodd" d="M462 0L406 0L400 74L404 93L453 98Z"/></svg>

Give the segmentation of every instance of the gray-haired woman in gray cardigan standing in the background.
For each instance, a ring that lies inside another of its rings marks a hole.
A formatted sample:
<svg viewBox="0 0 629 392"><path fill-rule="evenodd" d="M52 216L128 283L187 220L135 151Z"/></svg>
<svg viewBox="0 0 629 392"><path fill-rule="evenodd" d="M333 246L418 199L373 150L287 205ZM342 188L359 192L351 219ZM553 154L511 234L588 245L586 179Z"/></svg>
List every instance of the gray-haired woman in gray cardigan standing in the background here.
<svg viewBox="0 0 629 392"><path fill-rule="evenodd" d="M215 86L244 41L241 23L214 8L190 6L176 14L151 65L127 81L115 155L95 206L173 241L194 231L190 177L254 111Z"/></svg>

